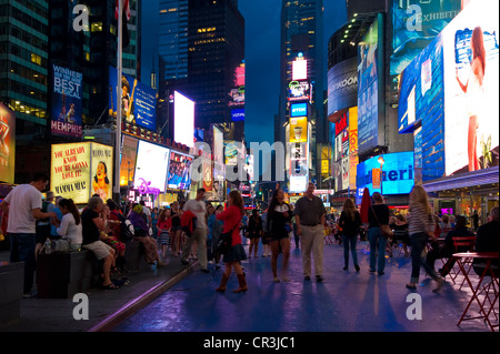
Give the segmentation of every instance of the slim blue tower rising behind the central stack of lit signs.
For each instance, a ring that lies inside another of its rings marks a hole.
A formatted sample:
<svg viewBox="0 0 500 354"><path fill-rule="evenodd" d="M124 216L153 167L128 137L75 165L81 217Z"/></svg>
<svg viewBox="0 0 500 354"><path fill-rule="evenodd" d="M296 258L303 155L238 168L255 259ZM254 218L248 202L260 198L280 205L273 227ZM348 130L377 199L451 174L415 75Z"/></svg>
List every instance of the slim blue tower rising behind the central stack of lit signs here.
<svg viewBox="0 0 500 354"><path fill-rule="evenodd" d="M292 65L298 58L307 60L307 81L311 84L310 113L308 113L310 161L314 179L318 144L328 143L329 125L323 101L323 6L321 0L283 0L281 9L281 70L278 121L274 122L276 141L286 142L290 102L289 84L293 81Z"/></svg>

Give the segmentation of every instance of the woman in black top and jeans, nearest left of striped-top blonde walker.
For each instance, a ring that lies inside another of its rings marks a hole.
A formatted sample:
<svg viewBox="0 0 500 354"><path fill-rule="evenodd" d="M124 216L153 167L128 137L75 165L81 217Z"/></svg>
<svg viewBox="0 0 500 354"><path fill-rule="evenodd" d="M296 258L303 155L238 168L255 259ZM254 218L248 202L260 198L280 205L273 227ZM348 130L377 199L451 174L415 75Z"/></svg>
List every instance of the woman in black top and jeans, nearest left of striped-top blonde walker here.
<svg viewBox="0 0 500 354"><path fill-rule="evenodd" d="M386 247L388 239L382 234L381 225L389 224L389 206L383 202L382 194L374 192L372 205L368 210L368 241L370 243L370 273L384 274Z"/></svg>

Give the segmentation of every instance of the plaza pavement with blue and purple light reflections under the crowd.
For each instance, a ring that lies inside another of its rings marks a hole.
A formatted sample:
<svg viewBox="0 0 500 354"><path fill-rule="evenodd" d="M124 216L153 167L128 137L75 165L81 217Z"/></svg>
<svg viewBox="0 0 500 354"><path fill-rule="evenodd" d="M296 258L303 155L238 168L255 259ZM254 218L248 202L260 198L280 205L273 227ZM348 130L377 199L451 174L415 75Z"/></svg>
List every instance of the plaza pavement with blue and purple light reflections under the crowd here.
<svg viewBox="0 0 500 354"><path fill-rule="evenodd" d="M324 245L324 280L318 283L314 274L303 280L300 252L292 245L289 281L274 283L260 245L259 257L242 262L249 290L240 294L232 293L234 274L218 293L222 270L211 264L207 274L197 262L187 267L170 256L164 267L130 274L131 284L120 290L89 292L89 320L73 318L71 299L26 299L21 320L0 324L0 332L491 332L482 320L457 326L470 299L467 286L448 282L433 293L422 270L417 292L407 290L409 257L387 259L386 274L371 274L368 244L360 242L360 272L352 261L343 271L342 246Z"/></svg>

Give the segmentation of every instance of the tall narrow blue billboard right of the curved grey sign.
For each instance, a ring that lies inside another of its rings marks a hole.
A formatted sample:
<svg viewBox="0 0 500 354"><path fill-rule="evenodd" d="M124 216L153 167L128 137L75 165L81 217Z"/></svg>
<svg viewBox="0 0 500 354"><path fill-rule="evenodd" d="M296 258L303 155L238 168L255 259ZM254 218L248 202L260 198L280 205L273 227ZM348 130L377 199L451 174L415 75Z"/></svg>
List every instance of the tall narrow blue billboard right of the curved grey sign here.
<svg viewBox="0 0 500 354"><path fill-rule="evenodd" d="M374 19L367 31L363 41L358 47L358 149L368 151L383 139L383 119L380 111L383 104L381 83L383 78L383 21L382 16ZM379 133L380 132L380 133Z"/></svg>

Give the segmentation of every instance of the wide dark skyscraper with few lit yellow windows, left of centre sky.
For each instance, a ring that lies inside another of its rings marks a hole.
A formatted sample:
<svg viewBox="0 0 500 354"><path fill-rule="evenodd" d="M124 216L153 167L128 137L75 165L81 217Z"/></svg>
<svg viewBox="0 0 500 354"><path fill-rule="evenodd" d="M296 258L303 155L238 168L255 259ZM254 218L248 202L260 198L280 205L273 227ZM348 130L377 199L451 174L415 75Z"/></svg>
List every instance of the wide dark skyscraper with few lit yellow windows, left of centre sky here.
<svg viewBox="0 0 500 354"><path fill-rule="evenodd" d="M230 91L244 55L244 20L238 1L163 0L159 12L160 120L169 120L168 99L178 90L196 102L197 128L230 127ZM242 134L241 124L233 136Z"/></svg>

